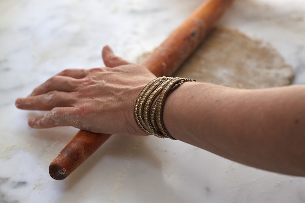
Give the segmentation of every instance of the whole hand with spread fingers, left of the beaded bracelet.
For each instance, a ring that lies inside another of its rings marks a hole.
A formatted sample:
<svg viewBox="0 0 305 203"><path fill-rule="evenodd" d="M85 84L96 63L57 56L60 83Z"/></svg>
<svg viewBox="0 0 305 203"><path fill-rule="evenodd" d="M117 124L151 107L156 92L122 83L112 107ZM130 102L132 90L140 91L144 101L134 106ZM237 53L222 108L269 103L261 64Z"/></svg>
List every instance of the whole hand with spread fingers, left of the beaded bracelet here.
<svg viewBox="0 0 305 203"><path fill-rule="evenodd" d="M48 111L30 118L32 128L73 126L95 133L146 135L138 127L133 108L137 96L155 76L145 67L115 56L106 46L107 67L67 69L18 98L16 107Z"/></svg>

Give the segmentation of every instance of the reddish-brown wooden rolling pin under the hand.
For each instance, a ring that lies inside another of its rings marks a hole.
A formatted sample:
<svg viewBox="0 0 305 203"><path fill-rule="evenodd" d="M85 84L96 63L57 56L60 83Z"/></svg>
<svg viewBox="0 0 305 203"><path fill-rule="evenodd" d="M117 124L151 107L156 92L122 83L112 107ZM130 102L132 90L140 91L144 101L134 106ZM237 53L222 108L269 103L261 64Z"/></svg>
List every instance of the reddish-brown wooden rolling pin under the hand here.
<svg viewBox="0 0 305 203"><path fill-rule="evenodd" d="M232 2L233 0L204 2L154 50L143 66L157 77L172 75L213 29ZM57 180L66 178L110 136L80 130L50 164L51 177Z"/></svg>

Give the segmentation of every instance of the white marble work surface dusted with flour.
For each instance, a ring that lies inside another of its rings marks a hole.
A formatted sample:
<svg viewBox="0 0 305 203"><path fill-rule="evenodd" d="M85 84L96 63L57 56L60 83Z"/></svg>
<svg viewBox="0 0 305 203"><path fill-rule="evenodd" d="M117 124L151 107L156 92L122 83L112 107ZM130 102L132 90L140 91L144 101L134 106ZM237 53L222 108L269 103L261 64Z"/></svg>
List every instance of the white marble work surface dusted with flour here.
<svg viewBox="0 0 305 203"><path fill-rule="evenodd" d="M305 203L305 178L231 162L179 141L115 135L62 181L48 166L77 129L33 130L14 101L62 69L131 61L201 0L0 1L0 203ZM222 26L271 43L305 84L305 1L236 0Z"/></svg>

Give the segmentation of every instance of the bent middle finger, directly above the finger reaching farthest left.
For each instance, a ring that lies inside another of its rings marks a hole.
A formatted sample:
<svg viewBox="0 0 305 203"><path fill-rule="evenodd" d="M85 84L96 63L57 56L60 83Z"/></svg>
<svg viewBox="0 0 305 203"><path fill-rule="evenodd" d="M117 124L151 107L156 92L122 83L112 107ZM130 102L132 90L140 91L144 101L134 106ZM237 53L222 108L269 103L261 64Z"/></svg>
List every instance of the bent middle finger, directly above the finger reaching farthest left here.
<svg viewBox="0 0 305 203"><path fill-rule="evenodd" d="M49 91L75 91L75 89L78 87L77 81L78 80L74 78L56 75L41 84L39 87L36 87L30 96L44 94Z"/></svg>

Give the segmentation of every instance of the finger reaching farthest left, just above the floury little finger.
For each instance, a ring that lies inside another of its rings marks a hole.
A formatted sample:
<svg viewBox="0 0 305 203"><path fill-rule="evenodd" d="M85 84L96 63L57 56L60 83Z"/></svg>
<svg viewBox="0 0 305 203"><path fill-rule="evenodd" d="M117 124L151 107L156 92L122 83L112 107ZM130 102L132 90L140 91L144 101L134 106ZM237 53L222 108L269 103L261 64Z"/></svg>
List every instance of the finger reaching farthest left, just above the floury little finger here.
<svg viewBox="0 0 305 203"><path fill-rule="evenodd" d="M50 111L55 107L71 107L76 102L74 93L50 91L46 94L18 98L15 105L19 109Z"/></svg>

